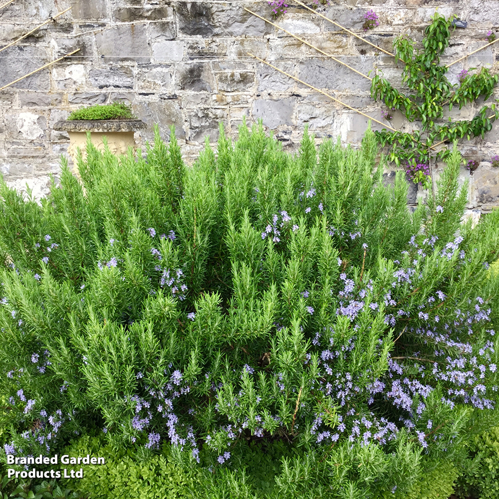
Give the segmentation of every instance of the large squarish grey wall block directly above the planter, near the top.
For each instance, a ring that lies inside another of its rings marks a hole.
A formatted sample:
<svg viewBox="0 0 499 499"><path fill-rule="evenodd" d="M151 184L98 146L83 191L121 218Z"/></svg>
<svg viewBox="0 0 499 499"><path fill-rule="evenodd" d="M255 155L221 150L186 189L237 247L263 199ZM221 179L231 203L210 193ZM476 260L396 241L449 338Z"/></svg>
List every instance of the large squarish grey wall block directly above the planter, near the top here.
<svg viewBox="0 0 499 499"><path fill-rule="evenodd" d="M120 24L95 35L97 53L106 62L149 62L150 48L145 24Z"/></svg>

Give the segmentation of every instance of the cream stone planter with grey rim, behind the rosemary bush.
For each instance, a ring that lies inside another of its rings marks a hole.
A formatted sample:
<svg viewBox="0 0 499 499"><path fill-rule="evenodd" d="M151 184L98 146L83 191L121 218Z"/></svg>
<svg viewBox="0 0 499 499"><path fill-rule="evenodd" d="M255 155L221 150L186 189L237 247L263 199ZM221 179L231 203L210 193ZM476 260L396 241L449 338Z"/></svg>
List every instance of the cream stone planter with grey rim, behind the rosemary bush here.
<svg viewBox="0 0 499 499"><path fill-rule="evenodd" d="M86 158L87 132L90 132L92 144L100 151L104 150L103 137L107 137L109 150L118 156L126 154L129 147L136 150L134 133L145 127L146 124L141 120L63 120L54 125L55 130L68 133L67 153L75 165L78 148L83 159Z"/></svg>

